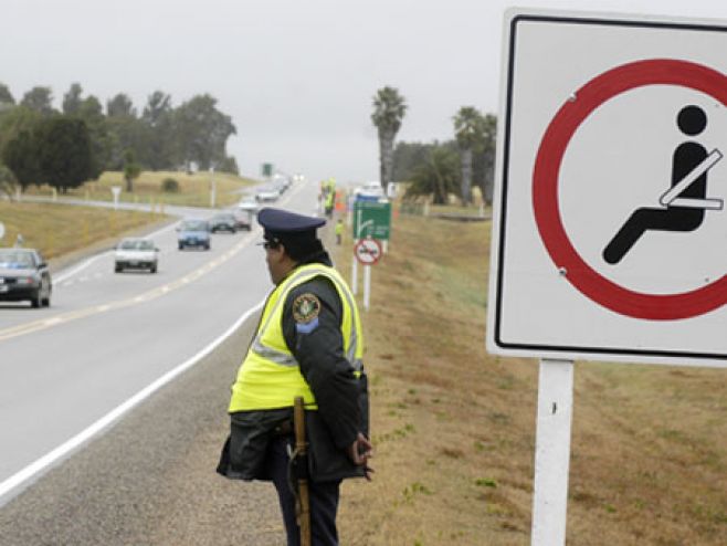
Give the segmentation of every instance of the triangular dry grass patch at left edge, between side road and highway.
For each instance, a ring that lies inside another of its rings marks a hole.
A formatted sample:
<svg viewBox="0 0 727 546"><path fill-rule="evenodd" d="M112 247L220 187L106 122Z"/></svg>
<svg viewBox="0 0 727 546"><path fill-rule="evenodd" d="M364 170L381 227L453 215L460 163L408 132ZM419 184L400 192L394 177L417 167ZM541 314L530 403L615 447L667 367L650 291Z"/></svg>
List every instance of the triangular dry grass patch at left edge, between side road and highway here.
<svg viewBox="0 0 727 546"><path fill-rule="evenodd" d="M6 227L0 246L11 246L21 233L24 246L39 249L50 260L160 221L162 216L147 212L0 201Z"/></svg>

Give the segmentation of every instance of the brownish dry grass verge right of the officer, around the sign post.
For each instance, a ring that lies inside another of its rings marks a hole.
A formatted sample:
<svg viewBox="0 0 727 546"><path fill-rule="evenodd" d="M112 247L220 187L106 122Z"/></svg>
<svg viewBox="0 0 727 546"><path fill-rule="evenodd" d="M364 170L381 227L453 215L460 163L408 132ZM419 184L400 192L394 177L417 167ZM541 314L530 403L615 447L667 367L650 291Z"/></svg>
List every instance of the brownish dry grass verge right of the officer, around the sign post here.
<svg viewBox="0 0 727 546"><path fill-rule="evenodd" d="M485 353L488 253L488 222L394 219L362 312L377 474L344 486L345 544L529 544L537 361ZM568 544L727 544L725 370L578 363L575 397Z"/></svg>

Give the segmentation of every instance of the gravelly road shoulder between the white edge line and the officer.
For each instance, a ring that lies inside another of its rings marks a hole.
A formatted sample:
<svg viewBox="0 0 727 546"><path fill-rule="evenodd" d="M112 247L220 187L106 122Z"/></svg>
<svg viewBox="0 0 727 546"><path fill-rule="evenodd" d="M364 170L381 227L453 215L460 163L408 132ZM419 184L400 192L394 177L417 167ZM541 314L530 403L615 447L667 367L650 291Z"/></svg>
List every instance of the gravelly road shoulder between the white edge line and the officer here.
<svg viewBox="0 0 727 546"><path fill-rule="evenodd" d="M214 471L256 317L0 507L0 545L285 544L273 486Z"/></svg>

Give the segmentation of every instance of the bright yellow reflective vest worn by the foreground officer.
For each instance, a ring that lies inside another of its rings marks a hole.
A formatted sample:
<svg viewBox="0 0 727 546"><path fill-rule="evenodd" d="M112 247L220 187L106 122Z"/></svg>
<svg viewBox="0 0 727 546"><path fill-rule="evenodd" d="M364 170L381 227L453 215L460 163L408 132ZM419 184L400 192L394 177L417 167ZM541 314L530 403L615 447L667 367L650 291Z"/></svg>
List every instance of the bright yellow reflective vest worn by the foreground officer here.
<svg viewBox="0 0 727 546"><path fill-rule="evenodd" d="M344 309L340 325L344 354L354 366L356 375L360 375L364 356L361 321L346 281L327 265L302 265L275 287L265 303L257 334L232 386L230 413L287 408L293 406L293 400L298 396L303 397L307 409L317 409L310 387L283 336L283 306L287 295L296 286L316 276L330 280L338 292Z"/></svg>

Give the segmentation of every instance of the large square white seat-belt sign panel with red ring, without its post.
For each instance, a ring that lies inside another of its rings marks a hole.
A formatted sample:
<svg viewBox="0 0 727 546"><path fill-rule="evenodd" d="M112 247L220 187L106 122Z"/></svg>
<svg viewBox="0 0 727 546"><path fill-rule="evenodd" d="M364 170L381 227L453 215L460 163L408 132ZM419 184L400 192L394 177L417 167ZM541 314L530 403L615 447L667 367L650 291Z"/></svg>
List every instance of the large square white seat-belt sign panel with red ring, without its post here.
<svg viewBox="0 0 727 546"><path fill-rule="evenodd" d="M727 367L727 23L509 21L487 347Z"/></svg>

